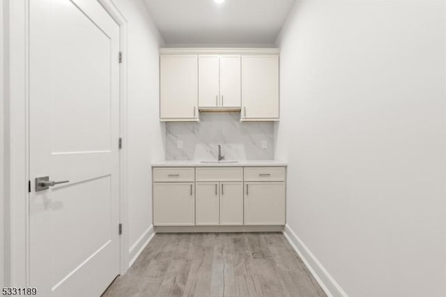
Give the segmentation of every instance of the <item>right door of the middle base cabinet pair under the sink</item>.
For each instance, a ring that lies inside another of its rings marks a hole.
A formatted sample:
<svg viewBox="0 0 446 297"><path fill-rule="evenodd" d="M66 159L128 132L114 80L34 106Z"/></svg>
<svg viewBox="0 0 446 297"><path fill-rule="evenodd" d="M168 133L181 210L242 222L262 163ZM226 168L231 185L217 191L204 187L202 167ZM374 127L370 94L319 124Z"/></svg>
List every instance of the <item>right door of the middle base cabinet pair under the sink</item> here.
<svg viewBox="0 0 446 297"><path fill-rule="evenodd" d="M220 183L220 224L243 225L243 183Z"/></svg>

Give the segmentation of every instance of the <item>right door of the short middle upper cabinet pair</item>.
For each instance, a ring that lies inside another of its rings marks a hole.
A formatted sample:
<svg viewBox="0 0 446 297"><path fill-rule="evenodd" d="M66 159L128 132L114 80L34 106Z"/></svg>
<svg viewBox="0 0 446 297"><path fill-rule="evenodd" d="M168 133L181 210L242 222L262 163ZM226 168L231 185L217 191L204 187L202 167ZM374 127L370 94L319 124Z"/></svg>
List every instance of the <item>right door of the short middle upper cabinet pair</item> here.
<svg viewBox="0 0 446 297"><path fill-rule="evenodd" d="M220 56L220 106L241 106L240 56Z"/></svg>

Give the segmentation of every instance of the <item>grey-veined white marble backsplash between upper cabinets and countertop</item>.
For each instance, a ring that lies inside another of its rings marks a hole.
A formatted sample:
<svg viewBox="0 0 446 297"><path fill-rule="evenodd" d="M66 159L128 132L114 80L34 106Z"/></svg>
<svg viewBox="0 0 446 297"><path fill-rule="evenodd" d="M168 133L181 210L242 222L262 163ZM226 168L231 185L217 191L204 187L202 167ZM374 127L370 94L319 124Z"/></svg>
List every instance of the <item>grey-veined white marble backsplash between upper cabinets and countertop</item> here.
<svg viewBox="0 0 446 297"><path fill-rule="evenodd" d="M202 112L199 123L166 123L166 160L215 160L219 144L226 160L272 160L274 123L240 123L239 112Z"/></svg>

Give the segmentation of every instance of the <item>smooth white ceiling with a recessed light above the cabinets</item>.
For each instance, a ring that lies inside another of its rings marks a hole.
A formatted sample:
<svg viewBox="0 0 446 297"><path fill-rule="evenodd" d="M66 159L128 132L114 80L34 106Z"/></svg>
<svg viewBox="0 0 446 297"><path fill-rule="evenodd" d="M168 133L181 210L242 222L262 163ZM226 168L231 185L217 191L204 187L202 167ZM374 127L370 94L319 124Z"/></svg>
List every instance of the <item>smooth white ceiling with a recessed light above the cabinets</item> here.
<svg viewBox="0 0 446 297"><path fill-rule="evenodd" d="M145 0L167 45L272 45L295 0Z"/></svg>

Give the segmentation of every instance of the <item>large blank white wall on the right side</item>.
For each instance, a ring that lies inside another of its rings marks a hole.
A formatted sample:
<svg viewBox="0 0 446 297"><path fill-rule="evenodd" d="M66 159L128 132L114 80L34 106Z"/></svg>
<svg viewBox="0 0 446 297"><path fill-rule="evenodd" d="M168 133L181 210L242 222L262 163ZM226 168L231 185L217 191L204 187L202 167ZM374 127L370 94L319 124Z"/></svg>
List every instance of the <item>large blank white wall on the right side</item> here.
<svg viewBox="0 0 446 297"><path fill-rule="evenodd" d="M445 12L300 1L277 40L288 224L349 296L446 294Z"/></svg>

